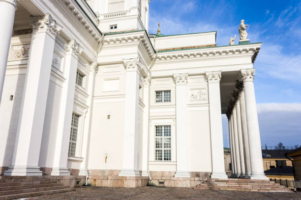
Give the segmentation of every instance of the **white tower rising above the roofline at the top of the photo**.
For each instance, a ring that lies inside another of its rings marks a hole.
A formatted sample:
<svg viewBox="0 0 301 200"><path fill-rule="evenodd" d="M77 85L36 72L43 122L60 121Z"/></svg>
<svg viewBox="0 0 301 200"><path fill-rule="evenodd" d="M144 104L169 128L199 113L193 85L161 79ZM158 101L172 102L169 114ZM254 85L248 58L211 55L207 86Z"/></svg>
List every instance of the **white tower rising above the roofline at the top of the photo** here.
<svg viewBox="0 0 301 200"><path fill-rule="evenodd" d="M151 0L87 0L102 32L149 30Z"/></svg>

